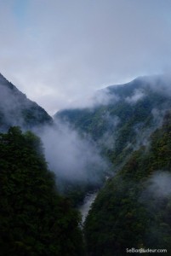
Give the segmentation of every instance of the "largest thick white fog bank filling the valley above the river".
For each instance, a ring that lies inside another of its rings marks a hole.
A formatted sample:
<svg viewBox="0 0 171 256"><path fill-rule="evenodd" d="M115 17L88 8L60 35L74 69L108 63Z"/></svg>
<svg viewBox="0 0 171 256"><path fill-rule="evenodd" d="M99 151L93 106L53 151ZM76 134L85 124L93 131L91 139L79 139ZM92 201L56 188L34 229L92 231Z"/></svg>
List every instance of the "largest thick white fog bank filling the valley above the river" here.
<svg viewBox="0 0 171 256"><path fill-rule="evenodd" d="M108 164L89 137L81 137L70 125L58 121L54 127L44 128L41 138L49 169L57 179L101 182Z"/></svg>

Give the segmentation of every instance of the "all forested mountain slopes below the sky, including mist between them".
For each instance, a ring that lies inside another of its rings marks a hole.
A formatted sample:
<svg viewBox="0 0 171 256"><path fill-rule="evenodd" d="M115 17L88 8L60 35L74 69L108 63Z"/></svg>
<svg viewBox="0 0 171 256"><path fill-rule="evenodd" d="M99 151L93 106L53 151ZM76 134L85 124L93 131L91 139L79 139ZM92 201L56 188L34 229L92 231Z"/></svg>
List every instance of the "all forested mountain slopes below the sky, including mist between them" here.
<svg viewBox="0 0 171 256"><path fill-rule="evenodd" d="M170 84L152 81L110 86L105 103L52 119L0 74L2 256L171 254ZM77 208L94 191L83 224Z"/></svg>

